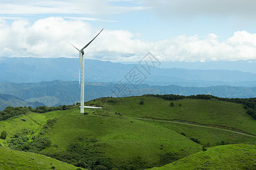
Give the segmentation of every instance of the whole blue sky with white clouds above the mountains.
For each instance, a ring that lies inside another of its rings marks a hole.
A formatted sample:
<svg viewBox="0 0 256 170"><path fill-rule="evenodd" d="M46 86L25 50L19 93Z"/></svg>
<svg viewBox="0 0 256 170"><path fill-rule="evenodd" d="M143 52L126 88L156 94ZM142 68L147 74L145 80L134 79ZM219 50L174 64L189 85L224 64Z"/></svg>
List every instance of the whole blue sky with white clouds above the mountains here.
<svg viewBox="0 0 256 170"><path fill-rule="evenodd" d="M0 0L1 57L256 60L255 0Z"/></svg>

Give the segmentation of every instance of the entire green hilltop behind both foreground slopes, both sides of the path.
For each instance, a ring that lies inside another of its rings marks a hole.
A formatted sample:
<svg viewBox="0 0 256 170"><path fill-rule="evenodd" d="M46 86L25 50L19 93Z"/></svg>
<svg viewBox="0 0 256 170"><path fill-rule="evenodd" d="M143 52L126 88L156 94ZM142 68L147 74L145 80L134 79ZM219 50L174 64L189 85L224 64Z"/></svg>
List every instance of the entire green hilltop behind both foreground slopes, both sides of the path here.
<svg viewBox="0 0 256 170"><path fill-rule="evenodd" d="M0 121L0 133L5 130L8 134L0 143L32 151L24 143L16 146L14 141L10 145L11 140L26 135L28 143L36 139L50 141L50 145L37 151L40 154L80 167L95 168L100 164L143 169L160 167L196 154L203 146L256 139L256 121L241 104L198 99L172 102L173 107L170 101L156 97L105 97L86 103L105 108L85 109L88 115L81 115L79 107L27 113ZM21 135L15 138L17 133ZM90 162L72 157L79 151L90 155ZM70 160L65 160L65 156Z"/></svg>

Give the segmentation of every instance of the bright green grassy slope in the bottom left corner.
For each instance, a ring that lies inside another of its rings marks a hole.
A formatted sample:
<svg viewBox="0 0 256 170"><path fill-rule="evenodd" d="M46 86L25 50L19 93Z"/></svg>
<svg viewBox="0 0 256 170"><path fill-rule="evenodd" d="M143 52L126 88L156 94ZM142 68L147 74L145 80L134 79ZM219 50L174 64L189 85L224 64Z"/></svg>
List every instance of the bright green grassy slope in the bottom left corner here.
<svg viewBox="0 0 256 170"><path fill-rule="evenodd" d="M77 169L48 156L0 147L0 169ZM83 168L81 168L83 169Z"/></svg>

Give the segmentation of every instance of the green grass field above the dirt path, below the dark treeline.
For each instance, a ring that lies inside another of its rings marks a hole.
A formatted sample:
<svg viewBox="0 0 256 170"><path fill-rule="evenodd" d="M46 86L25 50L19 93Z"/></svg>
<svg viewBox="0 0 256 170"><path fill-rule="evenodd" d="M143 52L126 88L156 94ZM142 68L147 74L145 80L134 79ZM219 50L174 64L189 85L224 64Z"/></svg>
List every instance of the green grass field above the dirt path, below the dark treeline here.
<svg viewBox="0 0 256 170"><path fill-rule="evenodd" d="M114 102L110 102L113 100ZM140 101L144 104L139 104ZM256 134L256 120L243 105L218 100L184 99L170 101L156 97L136 96L122 98L101 98L88 103L103 105L113 112L127 117L152 117L164 120L187 120L200 124L227 126ZM253 128L255 127L255 128Z"/></svg>

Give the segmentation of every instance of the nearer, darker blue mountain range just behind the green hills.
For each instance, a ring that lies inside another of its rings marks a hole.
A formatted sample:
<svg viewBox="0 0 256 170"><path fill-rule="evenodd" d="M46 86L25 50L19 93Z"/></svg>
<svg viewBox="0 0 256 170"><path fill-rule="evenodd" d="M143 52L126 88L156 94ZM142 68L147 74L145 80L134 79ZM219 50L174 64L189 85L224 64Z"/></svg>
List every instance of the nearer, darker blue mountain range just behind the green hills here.
<svg viewBox="0 0 256 170"><path fill-rule="evenodd" d="M141 84L134 88L131 84L123 84L126 91L121 91L121 84L86 83L85 101L98 97L138 96L144 94L197 95L209 94L218 97L247 98L256 97L256 87L181 87L181 86L149 86ZM118 91L119 90L119 91ZM40 83L0 82L0 110L8 105L37 107L39 105L58 106L80 102L80 88L77 81L61 81ZM5 94L5 95L3 95Z"/></svg>

